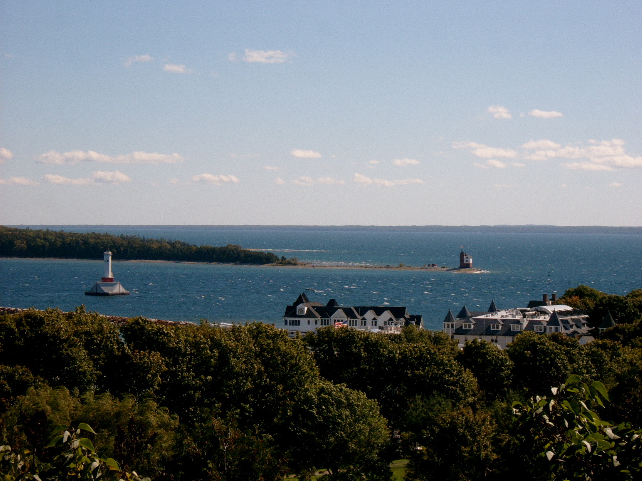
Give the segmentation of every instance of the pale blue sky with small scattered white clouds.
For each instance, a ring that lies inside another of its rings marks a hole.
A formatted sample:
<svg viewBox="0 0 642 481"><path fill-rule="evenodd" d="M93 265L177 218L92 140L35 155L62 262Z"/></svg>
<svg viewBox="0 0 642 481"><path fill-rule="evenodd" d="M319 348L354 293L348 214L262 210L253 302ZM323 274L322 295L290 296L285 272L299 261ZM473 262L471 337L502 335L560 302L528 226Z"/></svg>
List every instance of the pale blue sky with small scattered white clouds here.
<svg viewBox="0 0 642 481"><path fill-rule="evenodd" d="M639 1L0 3L0 223L642 225Z"/></svg>

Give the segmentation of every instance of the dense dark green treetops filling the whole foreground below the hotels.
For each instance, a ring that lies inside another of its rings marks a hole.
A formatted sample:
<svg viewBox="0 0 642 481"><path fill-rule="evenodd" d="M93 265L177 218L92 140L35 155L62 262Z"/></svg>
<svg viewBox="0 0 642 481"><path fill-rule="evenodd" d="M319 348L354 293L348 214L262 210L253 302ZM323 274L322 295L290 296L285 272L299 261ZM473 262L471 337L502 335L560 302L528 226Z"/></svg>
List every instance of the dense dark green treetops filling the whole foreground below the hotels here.
<svg viewBox="0 0 642 481"><path fill-rule="evenodd" d="M626 308L587 344L530 331L505 350L416 326L290 338L83 307L0 314L0 475L639 480L641 295L569 289L589 316Z"/></svg>

